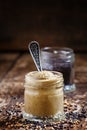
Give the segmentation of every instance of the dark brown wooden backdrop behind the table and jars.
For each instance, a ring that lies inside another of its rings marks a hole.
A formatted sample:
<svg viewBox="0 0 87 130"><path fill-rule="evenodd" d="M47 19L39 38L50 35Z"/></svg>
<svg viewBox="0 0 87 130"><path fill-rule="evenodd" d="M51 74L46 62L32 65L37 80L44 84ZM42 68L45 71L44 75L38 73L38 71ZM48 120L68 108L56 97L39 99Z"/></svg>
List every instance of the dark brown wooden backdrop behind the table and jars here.
<svg viewBox="0 0 87 130"><path fill-rule="evenodd" d="M0 0L0 51L66 46L87 51L87 0Z"/></svg>

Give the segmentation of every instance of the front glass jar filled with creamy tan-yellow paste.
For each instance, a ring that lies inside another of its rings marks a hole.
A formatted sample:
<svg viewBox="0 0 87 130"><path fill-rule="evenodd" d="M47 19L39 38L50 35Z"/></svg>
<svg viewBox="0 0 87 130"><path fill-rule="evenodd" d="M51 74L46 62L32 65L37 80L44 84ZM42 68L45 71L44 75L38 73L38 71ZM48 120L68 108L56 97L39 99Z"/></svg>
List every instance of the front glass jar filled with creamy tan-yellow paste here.
<svg viewBox="0 0 87 130"><path fill-rule="evenodd" d="M64 119L61 73L32 71L25 75L24 87L24 118L30 121Z"/></svg>

